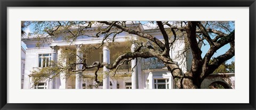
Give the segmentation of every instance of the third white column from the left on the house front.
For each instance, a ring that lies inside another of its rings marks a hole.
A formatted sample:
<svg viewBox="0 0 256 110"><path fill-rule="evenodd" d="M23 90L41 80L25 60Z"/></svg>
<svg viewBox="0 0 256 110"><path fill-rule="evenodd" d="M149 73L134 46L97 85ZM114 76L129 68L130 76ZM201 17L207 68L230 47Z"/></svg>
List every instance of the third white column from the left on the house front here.
<svg viewBox="0 0 256 110"><path fill-rule="evenodd" d="M110 63L110 52L107 46L103 47L103 63ZM110 88L109 70L103 67L103 89Z"/></svg>

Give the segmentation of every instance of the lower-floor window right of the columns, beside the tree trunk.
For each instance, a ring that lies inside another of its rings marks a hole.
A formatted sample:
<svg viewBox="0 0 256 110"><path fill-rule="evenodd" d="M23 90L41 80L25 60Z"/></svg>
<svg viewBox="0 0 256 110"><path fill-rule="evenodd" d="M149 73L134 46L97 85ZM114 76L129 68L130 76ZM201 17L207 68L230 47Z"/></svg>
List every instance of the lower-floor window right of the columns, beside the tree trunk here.
<svg viewBox="0 0 256 110"><path fill-rule="evenodd" d="M154 79L155 89L169 89L169 79Z"/></svg>

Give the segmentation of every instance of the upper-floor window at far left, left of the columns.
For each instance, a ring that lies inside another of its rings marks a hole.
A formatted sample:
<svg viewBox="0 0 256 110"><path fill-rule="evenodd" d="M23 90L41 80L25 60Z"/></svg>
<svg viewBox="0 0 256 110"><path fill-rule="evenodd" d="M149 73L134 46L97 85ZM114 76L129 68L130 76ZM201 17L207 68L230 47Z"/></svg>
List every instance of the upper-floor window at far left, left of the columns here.
<svg viewBox="0 0 256 110"><path fill-rule="evenodd" d="M38 67L50 67L51 66L51 53L39 54L39 66Z"/></svg>

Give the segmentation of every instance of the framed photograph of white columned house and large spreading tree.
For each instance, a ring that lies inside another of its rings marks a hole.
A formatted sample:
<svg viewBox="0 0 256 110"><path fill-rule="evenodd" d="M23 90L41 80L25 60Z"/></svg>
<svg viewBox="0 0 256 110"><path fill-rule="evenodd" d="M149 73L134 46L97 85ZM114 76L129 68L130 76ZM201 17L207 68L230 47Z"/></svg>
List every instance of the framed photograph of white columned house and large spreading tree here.
<svg viewBox="0 0 256 110"><path fill-rule="evenodd" d="M21 89L235 89L235 21L21 21Z"/></svg>

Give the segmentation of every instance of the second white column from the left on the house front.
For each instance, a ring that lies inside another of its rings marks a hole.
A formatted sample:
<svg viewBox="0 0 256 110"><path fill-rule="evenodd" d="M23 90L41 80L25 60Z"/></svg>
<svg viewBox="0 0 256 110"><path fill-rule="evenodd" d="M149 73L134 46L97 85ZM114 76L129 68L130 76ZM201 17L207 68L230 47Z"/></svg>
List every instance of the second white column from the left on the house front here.
<svg viewBox="0 0 256 110"><path fill-rule="evenodd" d="M76 62L82 62L83 53L81 52L82 44L76 45ZM82 69L83 65L77 65L76 70ZM83 89L83 80L82 80L82 73L76 73L76 89Z"/></svg>

